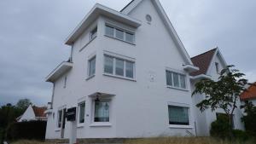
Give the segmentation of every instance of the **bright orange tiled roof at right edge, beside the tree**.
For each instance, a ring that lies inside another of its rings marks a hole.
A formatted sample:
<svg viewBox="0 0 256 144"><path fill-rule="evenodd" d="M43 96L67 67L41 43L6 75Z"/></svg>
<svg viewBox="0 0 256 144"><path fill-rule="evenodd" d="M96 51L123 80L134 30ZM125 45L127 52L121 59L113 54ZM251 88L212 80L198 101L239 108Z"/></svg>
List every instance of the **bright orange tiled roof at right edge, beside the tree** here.
<svg viewBox="0 0 256 144"><path fill-rule="evenodd" d="M251 101L256 106L256 82L240 95L240 100L242 105L245 104L245 101Z"/></svg>

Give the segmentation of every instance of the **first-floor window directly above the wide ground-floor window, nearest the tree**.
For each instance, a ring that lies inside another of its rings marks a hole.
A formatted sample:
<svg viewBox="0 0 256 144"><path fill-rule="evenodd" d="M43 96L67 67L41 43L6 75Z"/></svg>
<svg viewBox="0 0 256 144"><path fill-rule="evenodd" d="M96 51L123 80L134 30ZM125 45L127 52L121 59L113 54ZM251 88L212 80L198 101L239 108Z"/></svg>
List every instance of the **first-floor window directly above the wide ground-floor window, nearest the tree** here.
<svg viewBox="0 0 256 144"><path fill-rule="evenodd" d="M186 76L166 70L166 84L174 88L186 89Z"/></svg>

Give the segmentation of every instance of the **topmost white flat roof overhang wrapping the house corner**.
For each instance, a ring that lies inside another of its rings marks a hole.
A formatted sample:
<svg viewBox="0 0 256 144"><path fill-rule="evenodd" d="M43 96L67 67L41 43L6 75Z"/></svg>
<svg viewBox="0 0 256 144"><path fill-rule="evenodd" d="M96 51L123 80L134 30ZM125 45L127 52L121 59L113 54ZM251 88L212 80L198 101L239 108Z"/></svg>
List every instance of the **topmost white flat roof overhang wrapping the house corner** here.
<svg viewBox="0 0 256 144"><path fill-rule="evenodd" d="M126 14L122 14L116 10L109 9L108 7L105 7L99 3L96 3L93 9L91 9L90 12L86 14L84 19L79 23L79 26L77 26L74 29L74 31L69 35L69 37L67 37L66 44L72 45L74 41L84 32L84 30L88 26L90 26L90 24L93 21L95 21L96 18L100 15L107 16L112 20L117 20L119 22L122 22L128 26L132 26L135 28L142 25L142 22L140 20L136 20Z"/></svg>

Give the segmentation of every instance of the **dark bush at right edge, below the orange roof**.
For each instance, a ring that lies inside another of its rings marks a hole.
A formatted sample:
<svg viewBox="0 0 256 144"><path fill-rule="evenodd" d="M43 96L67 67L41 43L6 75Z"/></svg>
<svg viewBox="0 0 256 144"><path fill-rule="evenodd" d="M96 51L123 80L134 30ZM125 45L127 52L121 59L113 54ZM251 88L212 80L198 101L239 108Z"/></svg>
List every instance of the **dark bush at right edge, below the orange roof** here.
<svg viewBox="0 0 256 144"><path fill-rule="evenodd" d="M246 102L241 108L244 108L247 113L247 115L241 118L245 124L246 131L249 135L253 135L256 138L256 107L253 106L252 102Z"/></svg>

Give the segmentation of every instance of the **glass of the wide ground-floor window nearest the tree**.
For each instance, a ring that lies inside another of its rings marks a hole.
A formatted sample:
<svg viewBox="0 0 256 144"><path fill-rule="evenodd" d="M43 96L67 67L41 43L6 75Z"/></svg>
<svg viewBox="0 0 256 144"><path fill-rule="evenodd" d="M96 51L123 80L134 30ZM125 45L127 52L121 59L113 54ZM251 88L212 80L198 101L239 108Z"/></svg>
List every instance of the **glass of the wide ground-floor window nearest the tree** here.
<svg viewBox="0 0 256 144"><path fill-rule="evenodd" d="M189 125L189 108L168 107L169 124Z"/></svg>

